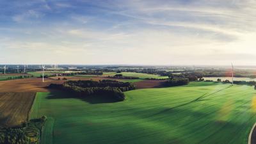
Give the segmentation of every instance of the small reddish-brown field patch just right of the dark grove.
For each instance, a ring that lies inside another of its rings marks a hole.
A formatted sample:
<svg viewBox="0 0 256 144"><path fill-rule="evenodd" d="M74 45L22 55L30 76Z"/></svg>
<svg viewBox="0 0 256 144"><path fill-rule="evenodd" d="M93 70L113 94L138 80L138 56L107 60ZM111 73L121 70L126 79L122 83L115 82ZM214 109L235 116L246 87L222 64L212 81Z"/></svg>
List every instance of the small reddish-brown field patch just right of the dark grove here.
<svg viewBox="0 0 256 144"><path fill-rule="evenodd" d="M163 86L163 82L166 80L145 80L134 83L137 89L142 88L161 88Z"/></svg>

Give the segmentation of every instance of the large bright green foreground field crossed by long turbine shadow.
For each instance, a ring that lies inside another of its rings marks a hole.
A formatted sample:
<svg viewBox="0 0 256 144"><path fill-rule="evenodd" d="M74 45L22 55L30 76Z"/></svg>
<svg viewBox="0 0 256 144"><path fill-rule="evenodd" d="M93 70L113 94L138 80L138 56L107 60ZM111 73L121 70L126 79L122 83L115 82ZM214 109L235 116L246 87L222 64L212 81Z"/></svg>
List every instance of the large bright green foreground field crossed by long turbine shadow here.
<svg viewBox="0 0 256 144"><path fill-rule="evenodd" d="M124 102L115 103L37 93L31 118L49 118L43 144L245 144L256 122L255 92L251 86L195 82L125 92Z"/></svg>

